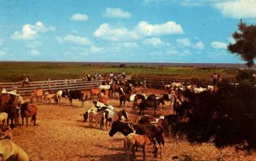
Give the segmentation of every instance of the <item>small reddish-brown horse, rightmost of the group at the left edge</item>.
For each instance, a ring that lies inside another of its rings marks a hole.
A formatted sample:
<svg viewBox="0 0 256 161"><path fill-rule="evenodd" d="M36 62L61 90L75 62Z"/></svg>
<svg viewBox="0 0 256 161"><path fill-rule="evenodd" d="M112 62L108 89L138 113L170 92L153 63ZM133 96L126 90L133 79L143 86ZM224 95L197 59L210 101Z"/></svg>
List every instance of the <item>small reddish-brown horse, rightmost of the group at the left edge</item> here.
<svg viewBox="0 0 256 161"><path fill-rule="evenodd" d="M37 114L38 107L33 104L28 104L27 102L23 103L20 106L20 114L22 118L22 125L24 125L24 118L26 118L26 126L28 125L28 118L32 117L32 121L34 121L34 126L37 125Z"/></svg>

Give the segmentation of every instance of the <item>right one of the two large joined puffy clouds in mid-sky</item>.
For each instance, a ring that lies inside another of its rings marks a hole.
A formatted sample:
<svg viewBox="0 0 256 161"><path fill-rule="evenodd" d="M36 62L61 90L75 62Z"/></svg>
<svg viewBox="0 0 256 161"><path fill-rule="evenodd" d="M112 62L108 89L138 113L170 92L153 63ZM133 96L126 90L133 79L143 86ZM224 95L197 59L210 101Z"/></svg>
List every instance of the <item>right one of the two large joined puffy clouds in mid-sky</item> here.
<svg viewBox="0 0 256 161"><path fill-rule="evenodd" d="M137 25L137 32L144 36L160 36L170 34L182 34L183 28L176 22L168 21L165 24L148 24L146 21L140 21Z"/></svg>

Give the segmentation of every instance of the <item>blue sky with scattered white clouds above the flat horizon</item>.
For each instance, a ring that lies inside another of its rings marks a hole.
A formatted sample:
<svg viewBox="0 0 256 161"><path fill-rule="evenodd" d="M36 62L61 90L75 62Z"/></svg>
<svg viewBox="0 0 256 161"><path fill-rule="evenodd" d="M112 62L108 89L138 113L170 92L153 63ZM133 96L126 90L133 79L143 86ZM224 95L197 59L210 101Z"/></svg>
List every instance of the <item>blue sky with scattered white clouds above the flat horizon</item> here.
<svg viewBox="0 0 256 161"><path fill-rule="evenodd" d="M256 0L0 0L0 60L245 63Z"/></svg>

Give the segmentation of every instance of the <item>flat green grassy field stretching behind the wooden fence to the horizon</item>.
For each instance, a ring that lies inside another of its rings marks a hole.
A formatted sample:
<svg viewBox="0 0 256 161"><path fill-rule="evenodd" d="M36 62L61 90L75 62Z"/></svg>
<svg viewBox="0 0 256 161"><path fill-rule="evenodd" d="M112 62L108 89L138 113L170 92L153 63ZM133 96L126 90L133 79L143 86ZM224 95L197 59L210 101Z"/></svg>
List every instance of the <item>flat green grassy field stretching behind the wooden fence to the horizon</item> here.
<svg viewBox="0 0 256 161"><path fill-rule="evenodd" d="M0 62L0 82L17 82L26 74L31 81L82 78L83 74L121 73L138 76L159 76L171 78L199 78L212 80L212 73L219 73L223 78L234 78L238 69L224 67L199 66L126 66L90 65L54 62Z"/></svg>

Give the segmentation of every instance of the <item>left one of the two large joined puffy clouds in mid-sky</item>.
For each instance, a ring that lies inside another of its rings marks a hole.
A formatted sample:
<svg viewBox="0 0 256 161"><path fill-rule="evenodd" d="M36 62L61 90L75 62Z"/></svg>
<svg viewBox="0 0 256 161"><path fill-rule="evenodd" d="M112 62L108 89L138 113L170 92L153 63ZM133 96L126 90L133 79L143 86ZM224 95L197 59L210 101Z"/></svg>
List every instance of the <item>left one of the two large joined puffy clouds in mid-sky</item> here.
<svg viewBox="0 0 256 161"><path fill-rule="evenodd" d="M111 28L108 23L102 24L94 32L94 36L108 41L130 41L140 38L136 32L129 31L125 27Z"/></svg>

